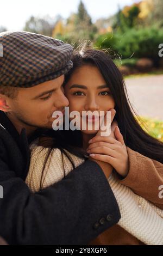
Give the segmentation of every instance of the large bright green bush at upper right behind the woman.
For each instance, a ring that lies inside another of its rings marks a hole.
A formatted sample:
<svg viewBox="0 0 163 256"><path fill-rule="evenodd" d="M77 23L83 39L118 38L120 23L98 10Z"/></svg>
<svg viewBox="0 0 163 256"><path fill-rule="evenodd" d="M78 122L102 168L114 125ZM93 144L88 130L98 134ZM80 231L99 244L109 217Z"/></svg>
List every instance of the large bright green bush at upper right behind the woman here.
<svg viewBox="0 0 163 256"><path fill-rule="evenodd" d="M163 43L163 28L129 29L125 33L108 33L99 35L95 46L98 48L111 48L122 59L152 58L159 59L159 44Z"/></svg>

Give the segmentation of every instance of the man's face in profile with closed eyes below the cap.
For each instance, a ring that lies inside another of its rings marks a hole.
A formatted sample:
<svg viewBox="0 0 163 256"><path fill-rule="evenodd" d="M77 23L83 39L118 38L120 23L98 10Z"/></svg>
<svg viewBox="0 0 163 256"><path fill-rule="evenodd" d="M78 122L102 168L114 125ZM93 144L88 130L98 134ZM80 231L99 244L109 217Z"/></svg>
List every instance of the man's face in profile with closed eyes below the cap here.
<svg viewBox="0 0 163 256"><path fill-rule="evenodd" d="M12 119L27 129L32 127L52 128L54 111L68 106L64 95L64 75L31 88L20 88L16 99L7 100Z"/></svg>

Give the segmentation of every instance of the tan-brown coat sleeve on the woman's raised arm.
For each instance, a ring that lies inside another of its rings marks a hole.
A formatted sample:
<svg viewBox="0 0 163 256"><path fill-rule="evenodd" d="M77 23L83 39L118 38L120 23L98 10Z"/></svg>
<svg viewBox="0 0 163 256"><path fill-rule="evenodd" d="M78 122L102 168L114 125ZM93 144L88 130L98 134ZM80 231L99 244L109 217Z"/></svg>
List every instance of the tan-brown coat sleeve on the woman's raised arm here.
<svg viewBox="0 0 163 256"><path fill-rule="evenodd" d="M129 173L124 179L115 174L116 179L121 184L130 187L139 196L163 209L163 164L129 147L127 147L127 152Z"/></svg>

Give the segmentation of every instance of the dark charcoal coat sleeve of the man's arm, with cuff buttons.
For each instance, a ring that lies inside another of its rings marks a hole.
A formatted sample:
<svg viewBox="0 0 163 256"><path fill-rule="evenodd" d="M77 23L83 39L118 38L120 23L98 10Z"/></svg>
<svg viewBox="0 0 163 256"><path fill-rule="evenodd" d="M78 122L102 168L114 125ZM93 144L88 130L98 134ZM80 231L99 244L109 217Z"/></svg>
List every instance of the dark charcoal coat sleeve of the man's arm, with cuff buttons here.
<svg viewBox="0 0 163 256"><path fill-rule="evenodd" d="M0 185L0 235L9 244L85 245L120 220L109 183L93 161L32 193L0 159Z"/></svg>

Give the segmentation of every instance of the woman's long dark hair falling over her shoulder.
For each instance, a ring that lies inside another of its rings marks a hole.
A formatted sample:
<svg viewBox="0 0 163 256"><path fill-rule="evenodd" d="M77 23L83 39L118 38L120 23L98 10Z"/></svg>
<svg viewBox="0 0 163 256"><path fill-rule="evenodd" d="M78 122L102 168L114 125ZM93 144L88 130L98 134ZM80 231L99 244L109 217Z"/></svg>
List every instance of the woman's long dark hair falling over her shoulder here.
<svg viewBox="0 0 163 256"><path fill-rule="evenodd" d="M103 75L114 98L116 110L114 119L118 123L126 146L150 159L163 163L163 143L144 131L136 120L137 114L130 104L123 76L109 54L92 48L83 49L74 52L72 62L73 68L66 75L65 86L74 70L83 65L96 66ZM137 119L144 125L139 117ZM86 156L81 149L82 132L51 131L51 136L54 140L49 150L60 148L63 151L67 149L79 157Z"/></svg>

